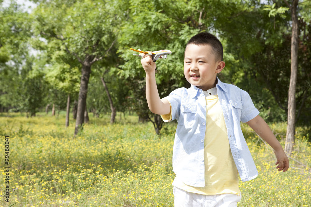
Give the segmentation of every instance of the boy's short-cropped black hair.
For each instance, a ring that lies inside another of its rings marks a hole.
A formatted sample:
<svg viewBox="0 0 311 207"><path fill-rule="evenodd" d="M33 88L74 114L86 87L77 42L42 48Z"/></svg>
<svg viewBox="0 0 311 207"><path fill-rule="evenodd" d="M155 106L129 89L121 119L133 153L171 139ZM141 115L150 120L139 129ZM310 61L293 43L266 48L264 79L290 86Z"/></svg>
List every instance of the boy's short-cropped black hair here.
<svg viewBox="0 0 311 207"><path fill-rule="evenodd" d="M219 39L211 33L208 32L198 33L189 39L186 47L188 46L188 44L210 45L215 55L215 61L223 61L224 49L222 47L222 44L219 41Z"/></svg>

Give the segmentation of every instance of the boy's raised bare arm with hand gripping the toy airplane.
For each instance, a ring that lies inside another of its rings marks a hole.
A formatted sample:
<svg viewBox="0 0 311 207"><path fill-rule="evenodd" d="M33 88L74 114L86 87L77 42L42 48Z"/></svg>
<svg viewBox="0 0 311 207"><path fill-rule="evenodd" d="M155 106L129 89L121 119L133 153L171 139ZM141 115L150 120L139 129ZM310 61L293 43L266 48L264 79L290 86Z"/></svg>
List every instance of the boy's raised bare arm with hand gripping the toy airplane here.
<svg viewBox="0 0 311 207"><path fill-rule="evenodd" d="M169 101L160 99L158 88L156 86L156 63L152 61L151 56L145 54L141 60L142 66L146 72L146 99L149 109L155 114L169 114L171 107Z"/></svg>

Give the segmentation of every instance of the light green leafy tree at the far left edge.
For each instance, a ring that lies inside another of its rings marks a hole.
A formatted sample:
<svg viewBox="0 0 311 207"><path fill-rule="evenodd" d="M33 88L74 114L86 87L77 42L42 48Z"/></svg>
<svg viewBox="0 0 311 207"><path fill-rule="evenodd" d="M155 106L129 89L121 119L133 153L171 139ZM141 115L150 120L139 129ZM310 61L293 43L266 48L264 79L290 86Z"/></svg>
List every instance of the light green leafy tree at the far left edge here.
<svg viewBox="0 0 311 207"><path fill-rule="evenodd" d="M41 90L42 79L32 71L35 58L29 54L31 17L12 1L0 8L0 21L0 106L35 115L39 106L34 96Z"/></svg>

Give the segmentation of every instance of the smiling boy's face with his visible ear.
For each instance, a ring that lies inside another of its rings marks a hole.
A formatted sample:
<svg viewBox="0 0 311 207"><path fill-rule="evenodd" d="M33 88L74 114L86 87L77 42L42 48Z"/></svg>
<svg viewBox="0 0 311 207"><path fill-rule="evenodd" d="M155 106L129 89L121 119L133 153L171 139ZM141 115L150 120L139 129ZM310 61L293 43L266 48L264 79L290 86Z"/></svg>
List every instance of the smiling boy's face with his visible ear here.
<svg viewBox="0 0 311 207"><path fill-rule="evenodd" d="M217 73L225 67L224 61L215 61L210 45L189 44L185 50L183 70L189 83L208 90L216 86Z"/></svg>

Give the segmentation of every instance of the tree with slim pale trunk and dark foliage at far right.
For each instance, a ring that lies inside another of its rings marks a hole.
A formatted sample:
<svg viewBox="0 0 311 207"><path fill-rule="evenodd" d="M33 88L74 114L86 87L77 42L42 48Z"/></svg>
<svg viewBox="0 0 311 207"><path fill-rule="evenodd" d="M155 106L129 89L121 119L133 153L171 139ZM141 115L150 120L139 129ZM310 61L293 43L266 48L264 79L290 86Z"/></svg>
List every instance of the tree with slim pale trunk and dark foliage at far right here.
<svg viewBox="0 0 311 207"><path fill-rule="evenodd" d="M310 2L306 1L304 4L309 6ZM284 5L290 8L290 13L286 12L288 8L285 8ZM305 70L308 63L304 60L309 56L306 26L309 24L310 18L303 20L300 15L300 20L298 20L298 1L293 1L292 5L286 1L273 1L272 5L263 6L262 3L255 6L252 16L250 16L250 13L239 14L236 20L246 22L243 17L248 17L248 24L239 25L234 23L232 25L239 29L231 28L225 34L232 34L227 42L232 44L232 46L229 45L230 47L236 45L236 52L234 52L234 49L231 52L232 54L238 54L236 59L239 62L243 61L243 65L238 65L241 68L247 65L246 70L242 73L244 78L239 79L239 82L250 81L249 86L263 83L262 87L266 86L270 90L270 96L272 95L279 107L288 114L285 151L290 153L294 143L295 122L297 122L300 112L303 109L307 110L305 104L308 103L309 99L309 73ZM305 6L304 8L306 9L304 13L309 16L310 7L307 9L307 6ZM252 18L256 19L253 20ZM271 18L273 19L271 20ZM304 24L304 28L299 26L299 22ZM248 25L253 31L247 29ZM299 38L300 30L304 31L301 39ZM239 42L242 44L239 44ZM253 47L249 47L251 44L253 44ZM298 51L299 53L302 52L303 56L299 57ZM302 61L297 61L298 58ZM291 64L288 64L289 60L291 60ZM298 68L301 70L299 71ZM299 80L298 83L297 79ZM288 86L288 82L290 82L290 86ZM304 90L297 91L297 87L304 88ZM246 88L251 89L251 87ZM286 89L288 89L288 93Z"/></svg>

